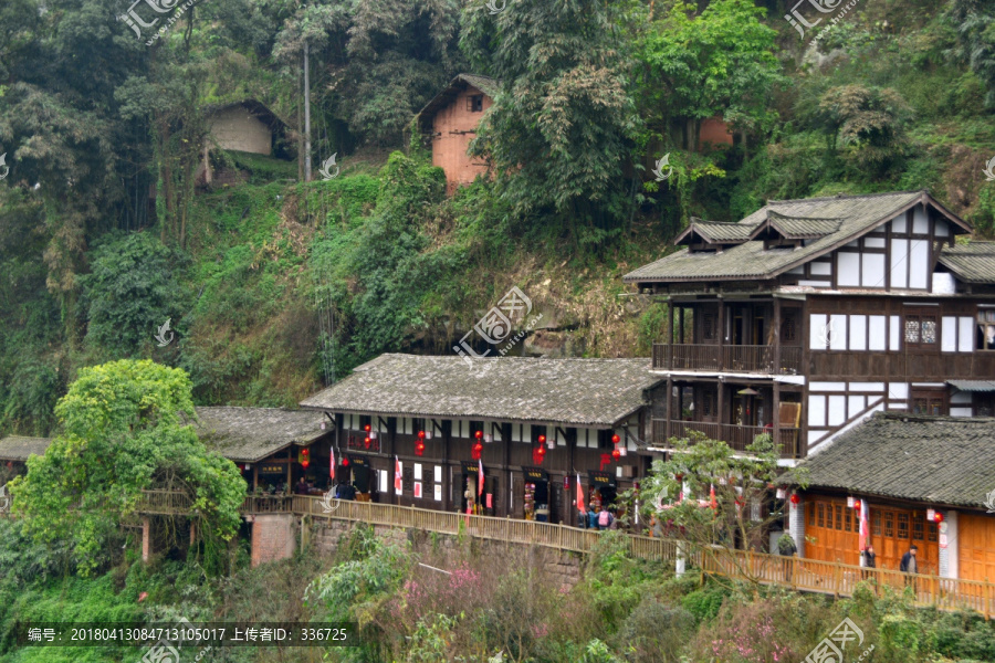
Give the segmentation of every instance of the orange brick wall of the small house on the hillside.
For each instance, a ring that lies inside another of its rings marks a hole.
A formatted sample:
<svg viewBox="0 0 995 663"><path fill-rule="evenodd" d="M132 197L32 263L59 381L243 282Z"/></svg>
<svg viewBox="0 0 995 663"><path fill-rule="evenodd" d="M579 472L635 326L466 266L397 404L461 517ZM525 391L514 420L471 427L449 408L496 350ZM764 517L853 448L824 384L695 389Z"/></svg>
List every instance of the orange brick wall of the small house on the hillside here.
<svg viewBox="0 0 995 663"><path fill-rule="evenodd" d="M483 113L468 109L469 97L476 94L483 93L468 87L449 106L439 110L432 120L432 133L438 134L432 136L432 165L446 171L449 193L488 171L482 159L471 158L467 154L470 141L476 136L476 125L483 117ZM490 108L491 103L491 97L484 95L483 109Z"/></svg>

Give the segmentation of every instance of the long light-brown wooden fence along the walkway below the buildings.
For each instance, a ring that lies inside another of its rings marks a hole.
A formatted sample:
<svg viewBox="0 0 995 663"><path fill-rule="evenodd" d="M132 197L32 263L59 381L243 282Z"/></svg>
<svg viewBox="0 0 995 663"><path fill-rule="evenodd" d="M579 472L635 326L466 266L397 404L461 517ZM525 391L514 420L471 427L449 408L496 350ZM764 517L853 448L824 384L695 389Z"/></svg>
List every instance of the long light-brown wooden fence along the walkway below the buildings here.
<svg viewBox="0 0 995 663"><path fill-rule="evenodd" d="M148 514L175 515L189 508L189 497L168 491L146 491L146 504L139 509ZM286 513L334 520L352 520L402 529L422 529L439 534L460 534L509 544L544 546L556 550L589 552L600 537L594 529L566 525L471 516L425 508L326 499L306 495L250 495L242 504L242 513ZM671 539L629 535L629 552L633 557L672 561L678 543ZM737 580L777 585L795 590L851 597L861 580L870 582L881 593L890 587L903 591L912 589L915 603L934 606L940 610L975 610L989 619L995 613L995 583L980 580L959 580L889 569L866 569L834 561L800 557L783 557L750 550L711 548L688 556L688 561L705 573Z"/></svg>

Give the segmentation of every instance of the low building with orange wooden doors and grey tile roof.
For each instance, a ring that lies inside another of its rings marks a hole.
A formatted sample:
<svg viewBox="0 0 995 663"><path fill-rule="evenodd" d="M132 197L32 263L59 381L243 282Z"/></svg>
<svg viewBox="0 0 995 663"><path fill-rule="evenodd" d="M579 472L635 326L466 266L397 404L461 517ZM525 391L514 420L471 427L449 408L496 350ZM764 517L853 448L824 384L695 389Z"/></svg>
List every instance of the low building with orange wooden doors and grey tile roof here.
<svg viewBox="0 0 995 663"><path fill-rule="evenodd" d="M914 544L921 573L995 579L993 432L992 418L879 412L840 435L800 464L792 534L804 557L857 565L865 501L878 568L898 569Z"/></svg>

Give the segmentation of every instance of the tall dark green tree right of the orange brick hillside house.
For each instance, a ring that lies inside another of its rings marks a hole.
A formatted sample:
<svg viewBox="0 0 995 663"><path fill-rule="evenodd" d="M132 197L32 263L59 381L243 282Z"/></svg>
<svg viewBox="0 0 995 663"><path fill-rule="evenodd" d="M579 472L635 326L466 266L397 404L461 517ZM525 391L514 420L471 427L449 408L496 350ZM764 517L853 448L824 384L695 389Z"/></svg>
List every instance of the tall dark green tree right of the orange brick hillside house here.
<svg viewBox="0 0 995 663"><path fill-rule="evenodd" d="M630 2L522 0L495 15L463 10L461 46L500 81L472 147L519 214L552 213L575 236L604 239L625 212L631 138ZM585 228L578 228L577 224Z"/></svg>

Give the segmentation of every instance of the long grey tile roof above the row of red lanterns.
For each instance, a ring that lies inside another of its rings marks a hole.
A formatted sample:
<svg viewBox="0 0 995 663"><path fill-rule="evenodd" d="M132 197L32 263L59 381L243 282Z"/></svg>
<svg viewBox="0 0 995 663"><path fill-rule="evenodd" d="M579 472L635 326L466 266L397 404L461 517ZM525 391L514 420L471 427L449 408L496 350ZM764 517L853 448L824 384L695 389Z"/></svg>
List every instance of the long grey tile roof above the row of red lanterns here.
<svg viewBox="0 0 995 663"><path fill-rule="evenodd" d="M471 372L457 355L383 355L301 404L387 417L608 428L641 408L643 390L660 381L650 375L649 358L500 357L474 364Z"/></svg>

